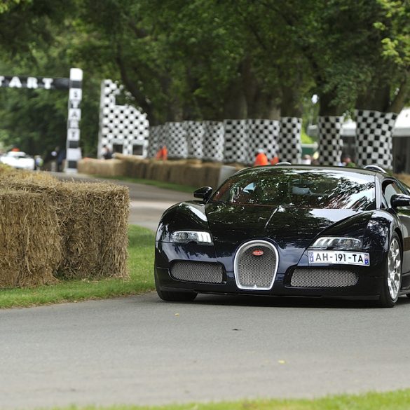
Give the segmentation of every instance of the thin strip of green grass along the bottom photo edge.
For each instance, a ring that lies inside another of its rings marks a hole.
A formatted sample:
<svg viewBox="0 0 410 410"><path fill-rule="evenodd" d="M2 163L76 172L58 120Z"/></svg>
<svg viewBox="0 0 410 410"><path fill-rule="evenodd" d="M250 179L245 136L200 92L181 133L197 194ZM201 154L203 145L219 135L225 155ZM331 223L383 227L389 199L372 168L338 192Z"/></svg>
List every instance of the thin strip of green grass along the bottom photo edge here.
<svg viewBox="0 0 410 410"><path fill-rule="evenodd" d="M53 410L409 410L410 389L395 392L370 392L364 395L339 395L321 399L245 400L207 404L168 406L69 406Z"/></svg>

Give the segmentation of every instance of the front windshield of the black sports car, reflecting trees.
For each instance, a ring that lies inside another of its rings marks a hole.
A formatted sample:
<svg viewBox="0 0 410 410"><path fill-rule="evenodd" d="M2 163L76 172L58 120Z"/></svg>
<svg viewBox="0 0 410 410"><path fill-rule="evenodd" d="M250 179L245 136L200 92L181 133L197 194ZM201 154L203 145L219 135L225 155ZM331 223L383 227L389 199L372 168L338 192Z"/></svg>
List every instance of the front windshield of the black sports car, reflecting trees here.
<svg viewBox="0 0 410 410"><path fill-rule="evenodd" d="M376 208L374 177L338 170L255 168L226 180L211 201L233 205Z"/></svg>

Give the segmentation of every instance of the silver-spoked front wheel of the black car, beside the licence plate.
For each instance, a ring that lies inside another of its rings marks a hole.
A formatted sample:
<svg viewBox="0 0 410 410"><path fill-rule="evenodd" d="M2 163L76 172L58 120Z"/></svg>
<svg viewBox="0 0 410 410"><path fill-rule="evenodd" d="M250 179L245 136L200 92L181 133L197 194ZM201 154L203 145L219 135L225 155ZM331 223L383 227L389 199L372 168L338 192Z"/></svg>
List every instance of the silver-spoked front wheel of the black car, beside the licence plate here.
<svg viewBox="0 0 410 410"><path fill-rule="evenodd" d="M388 257L385 267L385 277L379 299L379 306L392 308L399 299L400 287L402 285L402 250L399 238L393 235L390 241Z"/></svg>

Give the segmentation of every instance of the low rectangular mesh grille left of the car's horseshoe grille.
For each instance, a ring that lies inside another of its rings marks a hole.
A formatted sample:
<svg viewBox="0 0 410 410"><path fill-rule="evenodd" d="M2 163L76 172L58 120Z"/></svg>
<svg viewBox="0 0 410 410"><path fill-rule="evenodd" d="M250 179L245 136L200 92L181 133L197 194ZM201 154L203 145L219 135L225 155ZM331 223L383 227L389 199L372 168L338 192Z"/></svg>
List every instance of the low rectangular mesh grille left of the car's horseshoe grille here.
<svg viewBox="0 0 410 410"><path fill-rule="evenodd" d="M188 282L222 283L224 268L221 264L207 262L177 261L171 266L171 276Z"/></svg>

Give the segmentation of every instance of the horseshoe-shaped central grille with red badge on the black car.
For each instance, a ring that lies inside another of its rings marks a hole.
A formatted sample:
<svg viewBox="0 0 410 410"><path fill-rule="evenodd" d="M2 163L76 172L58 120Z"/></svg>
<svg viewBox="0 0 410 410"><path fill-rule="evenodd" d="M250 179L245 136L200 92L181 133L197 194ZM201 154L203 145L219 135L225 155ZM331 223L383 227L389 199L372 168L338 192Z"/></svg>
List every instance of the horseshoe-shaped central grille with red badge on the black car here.
<svg viewBox="0 0 410 410"><path fill-rule="evenodd" d="M255 253L262 253L255 255ZM235 281L240 289L272 289L278 269L278 251L269 242L252 240L242 245L235 255Z"/></svg>

